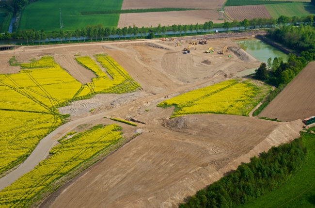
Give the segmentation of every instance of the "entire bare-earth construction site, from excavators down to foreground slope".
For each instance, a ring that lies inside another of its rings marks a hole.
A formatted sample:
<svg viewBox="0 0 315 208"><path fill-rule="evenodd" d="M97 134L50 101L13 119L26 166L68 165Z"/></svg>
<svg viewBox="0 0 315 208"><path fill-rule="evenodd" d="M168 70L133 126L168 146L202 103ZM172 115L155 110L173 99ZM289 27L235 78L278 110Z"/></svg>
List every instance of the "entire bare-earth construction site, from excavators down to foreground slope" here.
<svg viewBox="0 0 315 208"><path fill-rule="evenodd" d="M252 34L249 34L252 36ZM215 36L214 36L215 37ZM198 114L169 119L174 108L157 104L174 96L234 79L237 72L261 62L231 41L179 38L91 44L20 47L0 52L0 73L18 73L21 63L51 55L82 84L95 77L74 58L107 53L136 80L142 90L123 95L100 94L59 108L70 114L69 131L80 125L111 122L115 117L137 122L122 125L124 136L141 135L92 167L61 184L40 205L59 207L177 207L197 190L235 170L241 162L271 146L299 137L301 120L287 123L255 117ZM219 36L217 38L220 38ZM200 41L207 41L199 44ZM192 48L193 47L193 48ZM186 49L186 50L185 50ZM185 51L190 51L185 54ZM211 52L205 52L211 51ZM89 110L94 109L90 112ZM63 130L63 126L56 131ZM79 131L79 130L78 130Z"/></svg>

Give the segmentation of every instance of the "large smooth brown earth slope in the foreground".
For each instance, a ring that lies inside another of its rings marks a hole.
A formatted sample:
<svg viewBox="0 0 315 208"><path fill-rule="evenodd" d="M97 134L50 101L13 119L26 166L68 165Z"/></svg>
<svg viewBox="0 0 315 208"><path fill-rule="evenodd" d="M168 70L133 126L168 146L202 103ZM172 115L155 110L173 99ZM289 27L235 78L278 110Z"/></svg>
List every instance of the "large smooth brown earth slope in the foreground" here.
<svg viewBox="0 0 315 208"><path fill-rule="evenodd" d="M165 119L171 112L155 107L142 113L139 119L147 124L142 135L41 207L175 207L253 155L299 137L302 126L300 120L279 123L231 115Z"/></svg>

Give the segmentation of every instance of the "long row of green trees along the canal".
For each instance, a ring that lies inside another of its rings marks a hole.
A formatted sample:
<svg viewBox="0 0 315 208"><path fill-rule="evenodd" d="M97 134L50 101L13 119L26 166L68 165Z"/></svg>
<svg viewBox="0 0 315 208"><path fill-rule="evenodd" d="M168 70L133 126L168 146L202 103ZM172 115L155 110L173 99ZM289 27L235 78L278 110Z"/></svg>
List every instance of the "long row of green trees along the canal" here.
<svg viewBox="0 0 315 208"><path fill-rule="evenodd" d="M313 24L315 22L315 18L314 16L310 15L310 16L305 16L305 17L297 17L297 16L293 16L293 17L286 17L286 16L280 16L278 19L274 19L274 18L253 18L251 20L248 19L244 19L243 21L237 21L236 19L233 20L233 22L227 22L225 21L223 24L221 24L221 27L224 28L226 31L230 30L230 29L257 29L257 28L273 28L275 26L283 26L283 25L287 25L287 24L293 24L293 25L297 25L299 23L303 23L303 24ZM46 38L48 37L48 41L50 41L50 38L53 38L55 40L56 43L56 39L58 38L61 42L63 42L63 39L65 40L69 40L70 43L70 39L75 36L76 38L78 38L78 42L79 42L79 38L80 37L84 37L84 42L85 42L85 38L89 37L91 39L96 38L103 38L106 37L108 40L110 38L110 36L113 37L113 39L115 40L115 35L119 36L119 40L121 39L121 37L124 37L126 40L126 37L129 36L129 38L131 39L131 35L134 35L136 38L138 38L138 35L140 34L141 37L146 37L148 32L153 32L156 33L158 35L160 34L165 34L169 31L172 31L173 34L176 36L176 32L181 35L182 33L185 33L185 35L187 35L187 32L192 33L193 31L196 31L196 34L198 34L198 32L205 32L207 33L207 31L213 29L216 25L213 24L212 21L209 22L205 22L203 25L199 25L198 23L196 25L172 25L171 27L168 26L161 26L160 24L157 26L157 28L138 28L135 25L133 27L124 27L122 29L120 28L104 28L101 24L96 25L96 26L88 26L86 28L83 28L81 30L77 29L76 31L72 32L72 31L64 31L64 30L60 30L60 31L53 31L51 33L46 33L43 30L42 31L34 31L34 30L18 30L17 32L13 32L13 33L4 33L3 35L0 34L0 39L20 39L23 38L27 41L32 40L32 43L34 45L34 40L38 40L38 42L40 40L46 40ZM48 35L47 35L48 34ZM149 36L149 37L153 37L153 36Z"/></svg>

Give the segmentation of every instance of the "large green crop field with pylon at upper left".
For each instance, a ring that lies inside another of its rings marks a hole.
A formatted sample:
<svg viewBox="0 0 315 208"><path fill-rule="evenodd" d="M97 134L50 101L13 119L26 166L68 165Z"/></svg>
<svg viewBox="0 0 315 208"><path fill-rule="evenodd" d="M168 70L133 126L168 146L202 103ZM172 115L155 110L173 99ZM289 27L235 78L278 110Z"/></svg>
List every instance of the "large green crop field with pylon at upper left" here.
<svg viewBox="0 0 315 208"><path fill-rule="evenodd" d="M119 14L82 16L82 11L121 9L123 0L41 0L26 6L22 11L18 29L60 30L59 8L64 30L73 31L88 25L102 24L117 27Z"/></svg>

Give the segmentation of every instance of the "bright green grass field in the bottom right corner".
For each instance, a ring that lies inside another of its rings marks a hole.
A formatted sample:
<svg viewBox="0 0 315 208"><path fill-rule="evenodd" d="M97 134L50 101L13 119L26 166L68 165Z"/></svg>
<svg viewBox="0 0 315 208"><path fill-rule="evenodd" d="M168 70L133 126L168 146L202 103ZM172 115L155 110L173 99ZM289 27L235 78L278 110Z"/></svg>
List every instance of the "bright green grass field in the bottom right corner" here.
<svg viewBox="0 0 315 208"><path fill-rule="evenodd" d="M281 188L242 205L242 208L314 208L315 207L315 134L305 133L308 150L304 167Z"/></svg>

